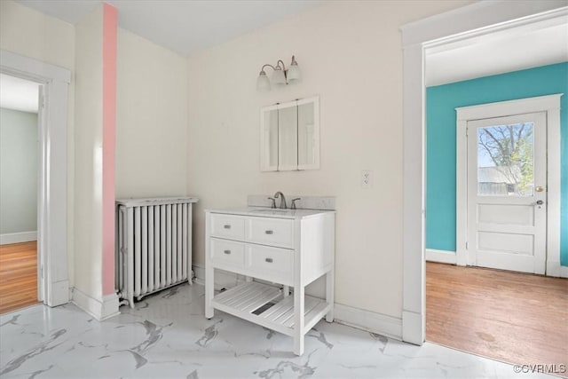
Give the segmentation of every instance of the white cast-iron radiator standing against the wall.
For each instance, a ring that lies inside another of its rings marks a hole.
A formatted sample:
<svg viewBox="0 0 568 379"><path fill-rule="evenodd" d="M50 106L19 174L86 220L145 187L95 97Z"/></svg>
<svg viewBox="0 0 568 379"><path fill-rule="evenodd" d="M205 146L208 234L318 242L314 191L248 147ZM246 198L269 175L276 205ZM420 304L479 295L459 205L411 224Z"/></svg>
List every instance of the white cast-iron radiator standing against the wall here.
<svg viewBox="0 0 568 379"><path fill-rule="evenodd" d="M116 201L115 286L134 308L134 298L192 282L192 204L198 199Z"/></svg>

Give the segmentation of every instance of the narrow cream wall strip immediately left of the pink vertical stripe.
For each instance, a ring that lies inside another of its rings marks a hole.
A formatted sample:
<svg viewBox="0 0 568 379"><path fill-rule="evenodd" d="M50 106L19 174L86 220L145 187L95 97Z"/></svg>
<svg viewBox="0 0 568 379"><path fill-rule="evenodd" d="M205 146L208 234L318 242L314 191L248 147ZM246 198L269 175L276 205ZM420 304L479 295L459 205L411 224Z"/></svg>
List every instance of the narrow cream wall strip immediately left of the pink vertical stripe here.
<svg viewBox="0 0 568 379"><path fill-rule="evenodd" d="M75 24L75 288L102 298L102 4Z"/></svg>

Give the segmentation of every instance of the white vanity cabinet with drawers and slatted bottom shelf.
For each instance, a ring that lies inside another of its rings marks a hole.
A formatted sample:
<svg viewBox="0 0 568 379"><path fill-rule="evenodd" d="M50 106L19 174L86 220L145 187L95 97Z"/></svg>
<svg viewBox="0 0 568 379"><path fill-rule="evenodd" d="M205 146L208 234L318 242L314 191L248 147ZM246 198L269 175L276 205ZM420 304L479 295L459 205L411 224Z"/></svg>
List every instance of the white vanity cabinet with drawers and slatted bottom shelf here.
<svg viewBox="0 0 568 379"><path fill-rule="evenodd" d="M292 336L301 355L304 335L324 316L334 318L335 211L206 210L205 230L205 317L218 309ZM215 269L246 280L215 296ZM322 275L326 299L305 296Z"/></svg>

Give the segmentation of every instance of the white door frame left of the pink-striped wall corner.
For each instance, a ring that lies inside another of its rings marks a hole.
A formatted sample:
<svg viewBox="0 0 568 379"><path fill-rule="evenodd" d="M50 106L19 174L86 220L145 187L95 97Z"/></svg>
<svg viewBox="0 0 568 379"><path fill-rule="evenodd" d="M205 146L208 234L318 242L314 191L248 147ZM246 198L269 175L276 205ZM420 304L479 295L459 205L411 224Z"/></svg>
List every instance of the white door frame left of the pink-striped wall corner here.
<svg viewBox="0 0 568 379"><path fill-rule="evenodd" d="M67 269L67 91L71 72L0 51L0 72L40 84L37 212L38 297L56 306L69 301Z"/></svg>

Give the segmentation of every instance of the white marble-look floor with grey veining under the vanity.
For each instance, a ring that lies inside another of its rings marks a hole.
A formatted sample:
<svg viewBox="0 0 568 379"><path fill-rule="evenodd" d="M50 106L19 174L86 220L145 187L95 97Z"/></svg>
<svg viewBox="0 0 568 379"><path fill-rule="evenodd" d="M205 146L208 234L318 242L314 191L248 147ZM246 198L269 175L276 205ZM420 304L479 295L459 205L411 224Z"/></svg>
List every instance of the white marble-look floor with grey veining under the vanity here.
<svg viewBox="0 0 568 379"><path fill-rule="evenodd" d="M2 378L510 378L512 366L437 344L414 346L322 320L292 338L216 311L182 285L99 322L73 304L0 316Z"/></svg>

